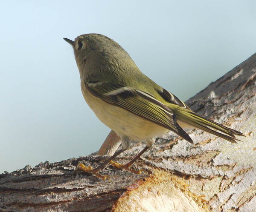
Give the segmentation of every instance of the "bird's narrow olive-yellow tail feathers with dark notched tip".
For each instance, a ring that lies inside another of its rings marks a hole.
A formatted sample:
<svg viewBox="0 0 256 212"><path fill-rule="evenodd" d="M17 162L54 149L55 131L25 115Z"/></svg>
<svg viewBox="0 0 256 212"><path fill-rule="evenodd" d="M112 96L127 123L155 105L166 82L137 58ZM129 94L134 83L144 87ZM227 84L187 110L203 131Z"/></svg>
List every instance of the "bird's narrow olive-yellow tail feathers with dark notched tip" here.
<svg viewBox="0 0 256 212"><path fill-rule="evenodd" d="M230 129L226 126L223 126L219 123L216 123L207 118L201 117L200 115L195 114L190 110L175 110L177 120L188 123L189 125L194 126L195 128L202 129L206 132L209 132L213 135L216 135L220 138L224 138L232 143L236 143L236 140L239 140L235 135L245 136L243 133ZM217 131L219 132L217 132Z"/></svg>

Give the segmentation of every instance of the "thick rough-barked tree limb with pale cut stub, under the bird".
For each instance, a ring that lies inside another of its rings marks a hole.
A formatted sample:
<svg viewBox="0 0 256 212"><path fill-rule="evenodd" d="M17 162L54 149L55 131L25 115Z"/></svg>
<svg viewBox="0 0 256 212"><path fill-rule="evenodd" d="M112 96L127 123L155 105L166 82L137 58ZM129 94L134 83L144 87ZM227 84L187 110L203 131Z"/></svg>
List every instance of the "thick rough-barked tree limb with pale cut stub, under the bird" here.
<svg viewBox="0 0 256 212"><path fill-rule="evenodd" d="M192 130L192 145L169 133L133 165L149 175L108 166L101 173L111 182L75 171L106 156L26 166L0 175L0 211L256 211L256 54L186 103L247 137L233 144ZM144 145L134 142L117 161L127 163Z"/></svg>

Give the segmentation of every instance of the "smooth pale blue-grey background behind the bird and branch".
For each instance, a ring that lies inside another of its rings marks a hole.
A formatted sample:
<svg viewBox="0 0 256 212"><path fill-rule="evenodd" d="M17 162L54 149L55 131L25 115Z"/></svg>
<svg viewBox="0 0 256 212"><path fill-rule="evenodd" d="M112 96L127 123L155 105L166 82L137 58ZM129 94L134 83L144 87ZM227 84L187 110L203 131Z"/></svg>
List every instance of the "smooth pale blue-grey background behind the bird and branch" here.
<svg viewBox="0 0 256 212"><path fill-rule="evenodd" d="M256 52L255 11L255 0L2 1L0 173L89 155L110 132L63 37L111 37L187 100Z"/></svg>

